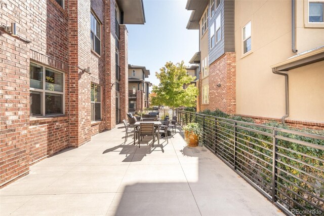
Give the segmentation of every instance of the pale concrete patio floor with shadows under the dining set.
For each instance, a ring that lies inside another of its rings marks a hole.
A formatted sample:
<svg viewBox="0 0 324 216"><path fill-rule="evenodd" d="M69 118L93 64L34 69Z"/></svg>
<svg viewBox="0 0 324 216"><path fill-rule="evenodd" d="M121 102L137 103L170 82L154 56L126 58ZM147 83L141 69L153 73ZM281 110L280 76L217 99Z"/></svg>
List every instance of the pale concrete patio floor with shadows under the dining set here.
<svg viewBox="0 0 324 216"><path fill-rule="evenodd" d="M0 190L0 215L284 215L179 128L139 149L117 127L31 166Z"/></svg>

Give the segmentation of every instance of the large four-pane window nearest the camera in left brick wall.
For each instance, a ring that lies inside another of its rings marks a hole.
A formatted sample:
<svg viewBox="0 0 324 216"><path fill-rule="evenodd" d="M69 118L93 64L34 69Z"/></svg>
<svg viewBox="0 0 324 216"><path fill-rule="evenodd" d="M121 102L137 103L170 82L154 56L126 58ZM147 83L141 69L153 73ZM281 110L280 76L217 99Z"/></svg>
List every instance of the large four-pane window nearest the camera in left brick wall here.
<svg viewBox="0 0 324 216"><path fill-rule="evenodd" d="M30 64L29 68L30 115L63 114L64 74L37 64Z"/></svg>

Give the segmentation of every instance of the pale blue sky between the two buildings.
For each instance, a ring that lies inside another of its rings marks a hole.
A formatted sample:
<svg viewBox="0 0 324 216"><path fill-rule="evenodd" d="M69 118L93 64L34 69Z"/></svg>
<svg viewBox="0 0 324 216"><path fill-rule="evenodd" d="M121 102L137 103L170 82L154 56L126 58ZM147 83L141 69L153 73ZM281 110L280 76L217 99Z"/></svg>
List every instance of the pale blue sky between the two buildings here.
<svg viewBox="0 0 324 216"><path fill-rule="evenodd" d="M167 61L188 61L198 51L198 30L186 29L191 11L186 0L144 0L146 23L127 25L128 63L146 66L148 81L157 85L155 71Z"/></svg>

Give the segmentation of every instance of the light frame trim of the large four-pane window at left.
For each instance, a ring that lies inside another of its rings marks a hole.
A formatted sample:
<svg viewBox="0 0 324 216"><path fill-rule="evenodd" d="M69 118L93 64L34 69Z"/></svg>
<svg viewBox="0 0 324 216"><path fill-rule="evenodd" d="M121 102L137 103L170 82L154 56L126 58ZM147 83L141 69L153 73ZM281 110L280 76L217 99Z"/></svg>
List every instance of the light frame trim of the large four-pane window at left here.
<svg viewBox="0 0 324 216"><path fill-rule="evenodd" d="M53 68L51 66L45 65L45 64L41 64L41 63L36 63L34 61L30 61L29 65L35 65L35 66L40 66L43 68L43 89L37 89L37 88L31 88L29 85L29 94L30 92L34 91L34 92L41 92L41 97L42 97L42 104L41 104L41 115L32 115L31 114L31 110L29 111L29 116L30 118L35 118L35 117L51 117L51 116L62 116L65 115L65 73L63 71L60 71L56 68ZM50 69L50 70L54 70L57 73L60 73L63 75L63 92L59 92L59 91L50 91L50 90L46 90L46 68ZM30 80L30 78L29 78ZM53 93L53 94L60 94L63 95L62 96L62 113L60 114L48 114L46 115L46 107L45 107L45 95L46 93ZM30 106L30 101L29 101L29 106Z"/></svg>

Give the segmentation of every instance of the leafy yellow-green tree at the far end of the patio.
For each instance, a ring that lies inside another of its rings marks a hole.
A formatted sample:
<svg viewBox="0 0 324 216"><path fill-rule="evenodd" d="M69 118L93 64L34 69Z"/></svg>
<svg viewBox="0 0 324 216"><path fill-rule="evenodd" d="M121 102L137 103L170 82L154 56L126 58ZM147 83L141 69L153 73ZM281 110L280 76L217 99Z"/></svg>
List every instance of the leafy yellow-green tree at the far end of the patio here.
<svg viewBox="0 0 324 216"><path fill-rule="evenodd" d="M167 62L166 65L160 68L160 73L155 73L160 83L158 86L153 85L151 94L152 105L166 105L171 108L180 106L195 106L197 88L190 82L195 80L195 77L187 74L184 62L176 63ZM186 89L183 89L184 84L190 84Z"/></svg>

